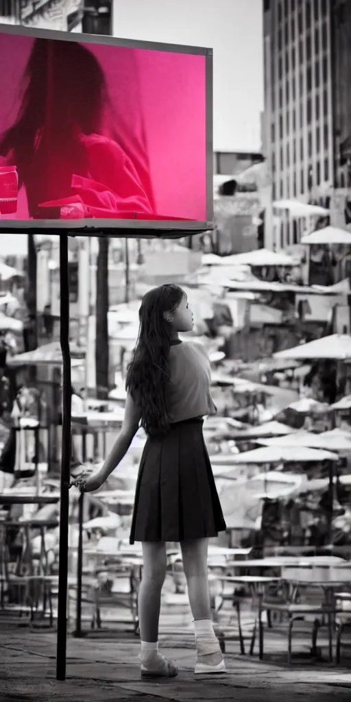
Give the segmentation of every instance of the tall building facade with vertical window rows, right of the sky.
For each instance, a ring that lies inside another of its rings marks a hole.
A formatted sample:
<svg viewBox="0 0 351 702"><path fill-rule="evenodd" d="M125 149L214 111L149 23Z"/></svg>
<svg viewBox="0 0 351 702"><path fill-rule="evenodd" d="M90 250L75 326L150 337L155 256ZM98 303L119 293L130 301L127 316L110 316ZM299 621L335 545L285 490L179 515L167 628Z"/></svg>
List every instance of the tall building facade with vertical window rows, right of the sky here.
<svg viewBox="0 0 351 702"><path fill-rule="evenodd" d="M321 202L334 186L333 0L264 0L265 147L273 201ZM298 244L280 221L266 245Z"/></svg>

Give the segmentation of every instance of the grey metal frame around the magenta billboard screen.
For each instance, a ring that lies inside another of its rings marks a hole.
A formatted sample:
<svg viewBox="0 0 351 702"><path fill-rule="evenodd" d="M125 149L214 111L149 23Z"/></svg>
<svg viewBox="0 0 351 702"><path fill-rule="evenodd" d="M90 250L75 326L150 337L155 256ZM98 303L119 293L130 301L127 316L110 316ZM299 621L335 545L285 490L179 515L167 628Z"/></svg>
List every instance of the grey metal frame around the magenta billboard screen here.
<svg viewBox="0 0 351 702"><path fill-rule="evenodd" d="M167 51L170 53L185 53L205 56L205 88L206 88L206 221L189 222L185 220L115 220L115 219L81 219L81 220L6 220L0 217L1 231L22 234L28 230L41 230L58 234L60 230L70 230L72 235L97 236L129 236L133 230L138 230L139 237L166 236L170 238L184 237L190 234L214 229L213 223L213 49L201 46L183 46L181 44L162 44L155 41L140 41L138 39L120 39L102 34L76 34L75 32L58 32L53 29L29 29L18 25L2 25L1 34L15 34L33 39L55 39L60 41L77 41L81 44L107 44L124 48L140 48L148 51ZM124 234L121 230L124 230ZM153 232L151 234L151 232ZM136 234L134 234L136 236Z"/></svg>

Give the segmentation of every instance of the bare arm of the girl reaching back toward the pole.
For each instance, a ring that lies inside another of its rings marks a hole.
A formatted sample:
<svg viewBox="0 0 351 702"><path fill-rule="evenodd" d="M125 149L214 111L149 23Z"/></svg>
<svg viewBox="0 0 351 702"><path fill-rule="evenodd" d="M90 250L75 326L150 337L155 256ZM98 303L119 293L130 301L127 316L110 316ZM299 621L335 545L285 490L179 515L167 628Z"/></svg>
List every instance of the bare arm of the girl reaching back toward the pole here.
<svg viewBox="0 0 351 702"><path fill-rule="evenodd" d="M117 465L119 465L122 458L124 458L126 455L135 433L138 431L140 418L140 408L128 393L124 420L117 440L100 470L98 470L98 472L96 472L94 475L91 475L86 479L82 479L80 487L83 492L98 490L98 488L107 480L109 475L111 475L114 468L117 468ZM79 478L77 482L79 482Z"/></svg>

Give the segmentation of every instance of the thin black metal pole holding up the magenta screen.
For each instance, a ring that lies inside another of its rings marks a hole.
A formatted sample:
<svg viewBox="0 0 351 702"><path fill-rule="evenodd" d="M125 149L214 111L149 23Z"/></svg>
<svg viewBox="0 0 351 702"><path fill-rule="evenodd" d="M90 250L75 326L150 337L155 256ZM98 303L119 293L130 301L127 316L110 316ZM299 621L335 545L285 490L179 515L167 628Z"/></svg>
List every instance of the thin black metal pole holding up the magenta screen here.
<svg viewBox="0 0 351 702"><path fill-rule="evenodd" d="M60 234L60 345L63 359L60 546L56 680L66 679L69 468L71 463L71 357L69 353L68 235Z"/></svg>

